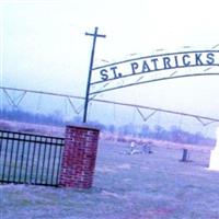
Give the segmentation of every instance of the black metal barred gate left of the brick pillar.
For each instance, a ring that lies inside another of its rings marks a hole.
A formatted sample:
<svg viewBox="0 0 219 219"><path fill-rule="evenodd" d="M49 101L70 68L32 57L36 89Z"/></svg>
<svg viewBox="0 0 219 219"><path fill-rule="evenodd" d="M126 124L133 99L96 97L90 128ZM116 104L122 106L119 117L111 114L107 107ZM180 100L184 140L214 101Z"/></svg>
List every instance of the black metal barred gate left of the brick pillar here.
<svg viewBox="0 0 219 219"><path fill-rule="evenodd" d="M58 186L64 140L0 130L0 182Z"/></svg>

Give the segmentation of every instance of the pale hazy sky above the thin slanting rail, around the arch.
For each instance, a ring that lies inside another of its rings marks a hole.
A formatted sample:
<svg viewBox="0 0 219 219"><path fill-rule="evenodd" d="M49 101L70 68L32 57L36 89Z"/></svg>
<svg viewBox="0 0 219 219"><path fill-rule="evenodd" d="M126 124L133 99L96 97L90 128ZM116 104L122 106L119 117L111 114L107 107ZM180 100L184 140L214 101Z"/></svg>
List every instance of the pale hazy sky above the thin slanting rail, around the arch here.
<svg viewBox="0 0 219 219"><path fill-rule="evenodd" d="M97 39L94 65L219 44L218 0L1 0L0 7L4 87L84 95L92 44L84 33L95 26L106 38ZM219 117L218 82L178 79L99 97Z"/></svg>

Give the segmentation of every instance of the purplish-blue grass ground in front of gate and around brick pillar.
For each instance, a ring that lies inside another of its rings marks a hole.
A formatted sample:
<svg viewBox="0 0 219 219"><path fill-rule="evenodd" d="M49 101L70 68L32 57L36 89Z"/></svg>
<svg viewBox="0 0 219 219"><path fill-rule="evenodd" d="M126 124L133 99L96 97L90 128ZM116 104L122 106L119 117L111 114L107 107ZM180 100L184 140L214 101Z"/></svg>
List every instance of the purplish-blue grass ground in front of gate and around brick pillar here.
<svg viewBox="0 0 219 219"><path fill-rule="evenodd" d="M126 153L128 145L100 141L93 188L77 191L0 185L1 219L219 219L219 172L209 151L154 147Z"/></svg>

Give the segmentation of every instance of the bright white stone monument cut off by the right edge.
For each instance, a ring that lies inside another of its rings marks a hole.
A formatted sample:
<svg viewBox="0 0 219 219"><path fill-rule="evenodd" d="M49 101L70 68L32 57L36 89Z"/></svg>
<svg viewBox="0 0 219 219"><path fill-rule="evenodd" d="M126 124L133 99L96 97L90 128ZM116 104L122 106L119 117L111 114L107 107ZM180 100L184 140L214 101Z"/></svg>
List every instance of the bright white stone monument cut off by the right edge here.
<svg viewBox="0 0 219 219"><path fill-rule="evenodd" d="M210 153L210 164L209 169L214 171L219 171L219 127L216 130L216 147Z"/></svg>

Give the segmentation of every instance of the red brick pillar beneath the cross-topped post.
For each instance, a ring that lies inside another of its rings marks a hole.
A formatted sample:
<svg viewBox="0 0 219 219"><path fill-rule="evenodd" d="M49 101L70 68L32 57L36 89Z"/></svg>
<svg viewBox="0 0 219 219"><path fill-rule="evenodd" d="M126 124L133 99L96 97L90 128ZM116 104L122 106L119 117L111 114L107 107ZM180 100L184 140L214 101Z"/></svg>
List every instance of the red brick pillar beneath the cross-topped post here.
<svg viewBox="0 0 219 219"><path fill-rule="evenodd" d="M59 185L90 188L93 182L99 130L67 126Z"/></svg>

